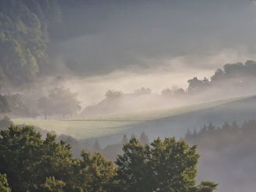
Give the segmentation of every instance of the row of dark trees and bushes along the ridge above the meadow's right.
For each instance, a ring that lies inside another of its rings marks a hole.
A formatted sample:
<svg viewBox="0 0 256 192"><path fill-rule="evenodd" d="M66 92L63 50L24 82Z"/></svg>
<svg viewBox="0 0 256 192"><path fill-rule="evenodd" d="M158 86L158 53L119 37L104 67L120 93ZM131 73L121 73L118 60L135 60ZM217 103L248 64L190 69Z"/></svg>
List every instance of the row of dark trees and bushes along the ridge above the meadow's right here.
<svg viewBox="0 0 256 192"><path fill-rule="evenodd" d="M200 93L200 91L207 91L208 88L217 88L217 86L227 84L230 87L246 87L253 84L253 80L256 78L256 61L246 61L244 64L241 62L235 64L225 64L223 69L217 69L214 74L207 78L199 79L193 77L187 80L187 88L178 88L173 85L171 88L165 88L161 91L162 96L184 96L189 94ZM225 91L225 90L222 90ZM140 88L134 91L134 94L150 94L150 88ZM106 93L107 98L115 98L123 95L122 91L109 90Z"/></svg>

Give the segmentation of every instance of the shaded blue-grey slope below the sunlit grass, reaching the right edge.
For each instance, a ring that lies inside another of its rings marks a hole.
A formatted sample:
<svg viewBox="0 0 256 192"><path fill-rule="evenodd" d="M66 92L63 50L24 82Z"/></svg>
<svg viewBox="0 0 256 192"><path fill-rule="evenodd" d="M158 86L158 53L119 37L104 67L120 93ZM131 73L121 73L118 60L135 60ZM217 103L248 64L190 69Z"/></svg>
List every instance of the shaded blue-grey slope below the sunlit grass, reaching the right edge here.
<svg viewBox="0 0 256 192"><path fill-rule="evenodd" d="M195 108L197 106L195 105ZM202 127L204 124L214 123L222 125L226 121L236 120L242 123L244 120L256 119L256 96L237 99L235 101L226 101L223 104L217 104L210 107L197 108L182 112L179 115L170 115L169 117L145 120L126 126L121 133L100 137L102 144L115 142L121 139L122 134L141 134L145 131L150 139L154 137L184 137L187 129L192 130L195 127Z"/></svg>

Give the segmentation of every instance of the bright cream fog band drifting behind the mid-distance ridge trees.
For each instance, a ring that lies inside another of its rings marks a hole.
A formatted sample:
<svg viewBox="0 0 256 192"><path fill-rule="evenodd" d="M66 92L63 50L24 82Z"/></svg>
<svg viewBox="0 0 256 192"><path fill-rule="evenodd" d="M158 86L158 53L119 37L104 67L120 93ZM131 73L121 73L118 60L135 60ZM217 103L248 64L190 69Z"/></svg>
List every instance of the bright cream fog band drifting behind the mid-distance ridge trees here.
<svg viewBox="0 0 256 192"><path fill-rule="evenodd" d="M189 78L198 77L203 79L203 77L211 77L217 69L216 67L222 68L227 63L244 62L254 58L256 58L255 55L237 53L231 50L217 55L202 56L202 58L170 58L169 60L158 61L160 64L150 69L116 70L116 72L105 75L71 77L64 81L64 86L78 92L78 98L83 101L83 107L86 107L87 105L97 104L104 99L105 93L111 89L124 93L132 93L135 89L142 87L151 88L152 93L161 93L163 89L175 85L186 89ZM209 66L187 68L189 64L199 66L208 64Z"/></svg>

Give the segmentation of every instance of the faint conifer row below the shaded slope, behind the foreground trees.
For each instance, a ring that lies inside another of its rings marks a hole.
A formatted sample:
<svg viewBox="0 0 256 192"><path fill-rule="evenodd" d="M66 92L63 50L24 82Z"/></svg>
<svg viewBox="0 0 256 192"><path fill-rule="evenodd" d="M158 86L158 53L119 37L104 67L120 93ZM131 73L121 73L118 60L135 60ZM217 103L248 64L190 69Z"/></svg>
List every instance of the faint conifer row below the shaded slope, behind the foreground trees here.
<svg viewBox="0 0 256 192"><path fill-rule="evenodd" d="M245 157L244 155L239 156L239 154L244 154L246 151L253 150L253 148L256 147L255 136L256 120L246 120L241 125L234 121L233 123L226 122L222 126L214 126L212 123L209 123L201 128L194 128L193 130L188 129L183 139L190 145L197 145L202 153L211 151L215 154L219 154L217 155L219 158L220 155L225 157L225 155L228 156L232 152L232 155L236 155L238 160L239 158ZM65 139L65 137L63 137L63 139ZM67 141L67 138L65 140ZM106 158L114 160L118 155L123 153L122 146L129 141L129 138L124 134L123 138L120 138L120 140L121 142L116 144L101 147L100 142L96 139L94 145L90 147L89 144L87 144L87 147L92 152L100 152ZM143 145L150 142L148 135L144 131L140 134L138 140ZM74 139L70 142L73 146L78 145L78 143L80 142ZM83 146L82 143L80 144ZM227 152L226 149L228 149L230 153L223 155L222 152ZM248 153L247 155L254 154ZM205 157L203 156L203 158Z"/></svg>

